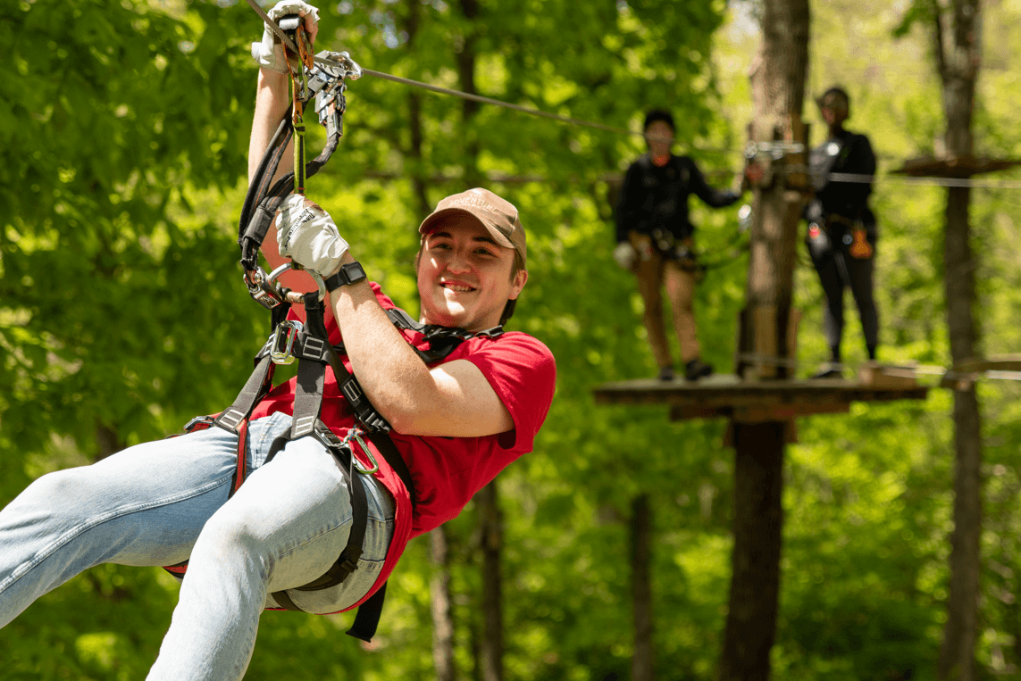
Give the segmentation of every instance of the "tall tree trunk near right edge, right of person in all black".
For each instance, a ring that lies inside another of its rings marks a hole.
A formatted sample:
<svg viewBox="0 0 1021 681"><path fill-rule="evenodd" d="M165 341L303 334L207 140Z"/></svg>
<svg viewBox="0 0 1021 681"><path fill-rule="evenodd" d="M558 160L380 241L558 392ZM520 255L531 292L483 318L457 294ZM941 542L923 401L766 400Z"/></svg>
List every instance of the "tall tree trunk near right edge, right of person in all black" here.
<svg viewBox="0 0 1021 681"><path fill-rule="evenodd" d="M973 153L972 112L980 63L980 0L954 0L950 30L935 14L935 57L943 85L944 136L952 158ZM938 8L938 6L937 6ZM955 363L976 356L975 269L971 251L967 187L946 191L945 266L946 324ZM951 585L946 625L937 676L942 681L977 678L975 639L978 630L979 572L982 532L981 414L974 384L954 392L954 532L951 537Z"/></svg>

